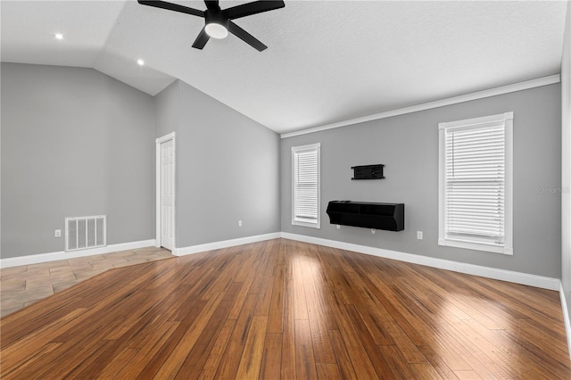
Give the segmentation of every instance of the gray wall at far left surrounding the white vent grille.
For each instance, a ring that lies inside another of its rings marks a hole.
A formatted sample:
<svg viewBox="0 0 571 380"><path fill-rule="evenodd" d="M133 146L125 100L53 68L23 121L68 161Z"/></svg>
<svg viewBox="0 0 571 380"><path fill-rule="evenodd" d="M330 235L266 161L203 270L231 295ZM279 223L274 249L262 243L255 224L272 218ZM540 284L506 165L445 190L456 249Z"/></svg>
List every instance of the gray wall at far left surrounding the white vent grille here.
<svg viewBox="0 0 571 380"><path fill-rule="evenodd" d="M65 217L154 238L153 97L93 69L1 69L2 257L63 251Z"/></svg>

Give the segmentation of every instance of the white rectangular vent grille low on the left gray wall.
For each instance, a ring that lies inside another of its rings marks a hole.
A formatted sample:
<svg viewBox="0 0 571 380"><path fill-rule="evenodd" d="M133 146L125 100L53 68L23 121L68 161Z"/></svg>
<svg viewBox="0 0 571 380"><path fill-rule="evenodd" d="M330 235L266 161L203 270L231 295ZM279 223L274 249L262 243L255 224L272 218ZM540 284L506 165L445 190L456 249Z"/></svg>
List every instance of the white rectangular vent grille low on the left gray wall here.
<svg viewBox="0 0 571 380"><path fill-rule="evenodd" d="M65 219L65 251L103 247L107 244L105 215Z"/></svg>

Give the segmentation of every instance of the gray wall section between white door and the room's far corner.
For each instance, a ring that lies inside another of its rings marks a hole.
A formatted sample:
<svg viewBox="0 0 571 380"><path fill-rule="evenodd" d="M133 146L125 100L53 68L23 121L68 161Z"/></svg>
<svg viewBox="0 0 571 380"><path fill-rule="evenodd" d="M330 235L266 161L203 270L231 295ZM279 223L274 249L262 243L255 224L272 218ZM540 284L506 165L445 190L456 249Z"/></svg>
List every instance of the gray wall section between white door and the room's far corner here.
<svg viewBox="0 0 571 380"><path fill-rule="evenodd" d="M155 136L177 134L177 247L279 232L279 136L181 81L155 105Z"/></svg>

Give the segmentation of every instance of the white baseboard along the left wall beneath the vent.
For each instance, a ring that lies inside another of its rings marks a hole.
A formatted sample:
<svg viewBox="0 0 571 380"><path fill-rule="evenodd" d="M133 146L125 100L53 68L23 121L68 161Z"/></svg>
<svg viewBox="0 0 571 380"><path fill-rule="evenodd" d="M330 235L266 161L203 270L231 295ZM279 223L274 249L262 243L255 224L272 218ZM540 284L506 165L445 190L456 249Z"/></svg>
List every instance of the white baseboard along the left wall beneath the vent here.
<svg viewBox="0 0 571 380"><path fill-rule="evenodd" d="M145 248L150 246L156 246L156 240L150 239L150 240L141 240L139 242L110 244L104 247L92 248L81 251L49 252L49 253L32 254L28 256L9 257L5 259L0 259L0 268L18 267L20 265L37 264L40 262L47 262L47 261L75 259L78 257L93 256L95 254L136 250L137 248Z"/></svg>

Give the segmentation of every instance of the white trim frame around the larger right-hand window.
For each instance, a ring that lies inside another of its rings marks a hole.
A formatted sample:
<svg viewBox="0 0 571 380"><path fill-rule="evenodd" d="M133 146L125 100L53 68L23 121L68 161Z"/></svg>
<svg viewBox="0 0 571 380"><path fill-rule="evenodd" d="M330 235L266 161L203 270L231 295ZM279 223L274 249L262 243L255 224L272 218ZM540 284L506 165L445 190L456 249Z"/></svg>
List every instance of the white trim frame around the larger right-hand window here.
<svg viewBox="0 0 571 380"><path fill-rule="evenodd" d="M481 118L443 122L438 124L438 245L513 255L513 118L513 112L505 112ZM473 128L480 124L490 123L503 123L505 133L505 205L503 246L451 238L446 235L445 231L445 132L449 129Z"/></svg>

